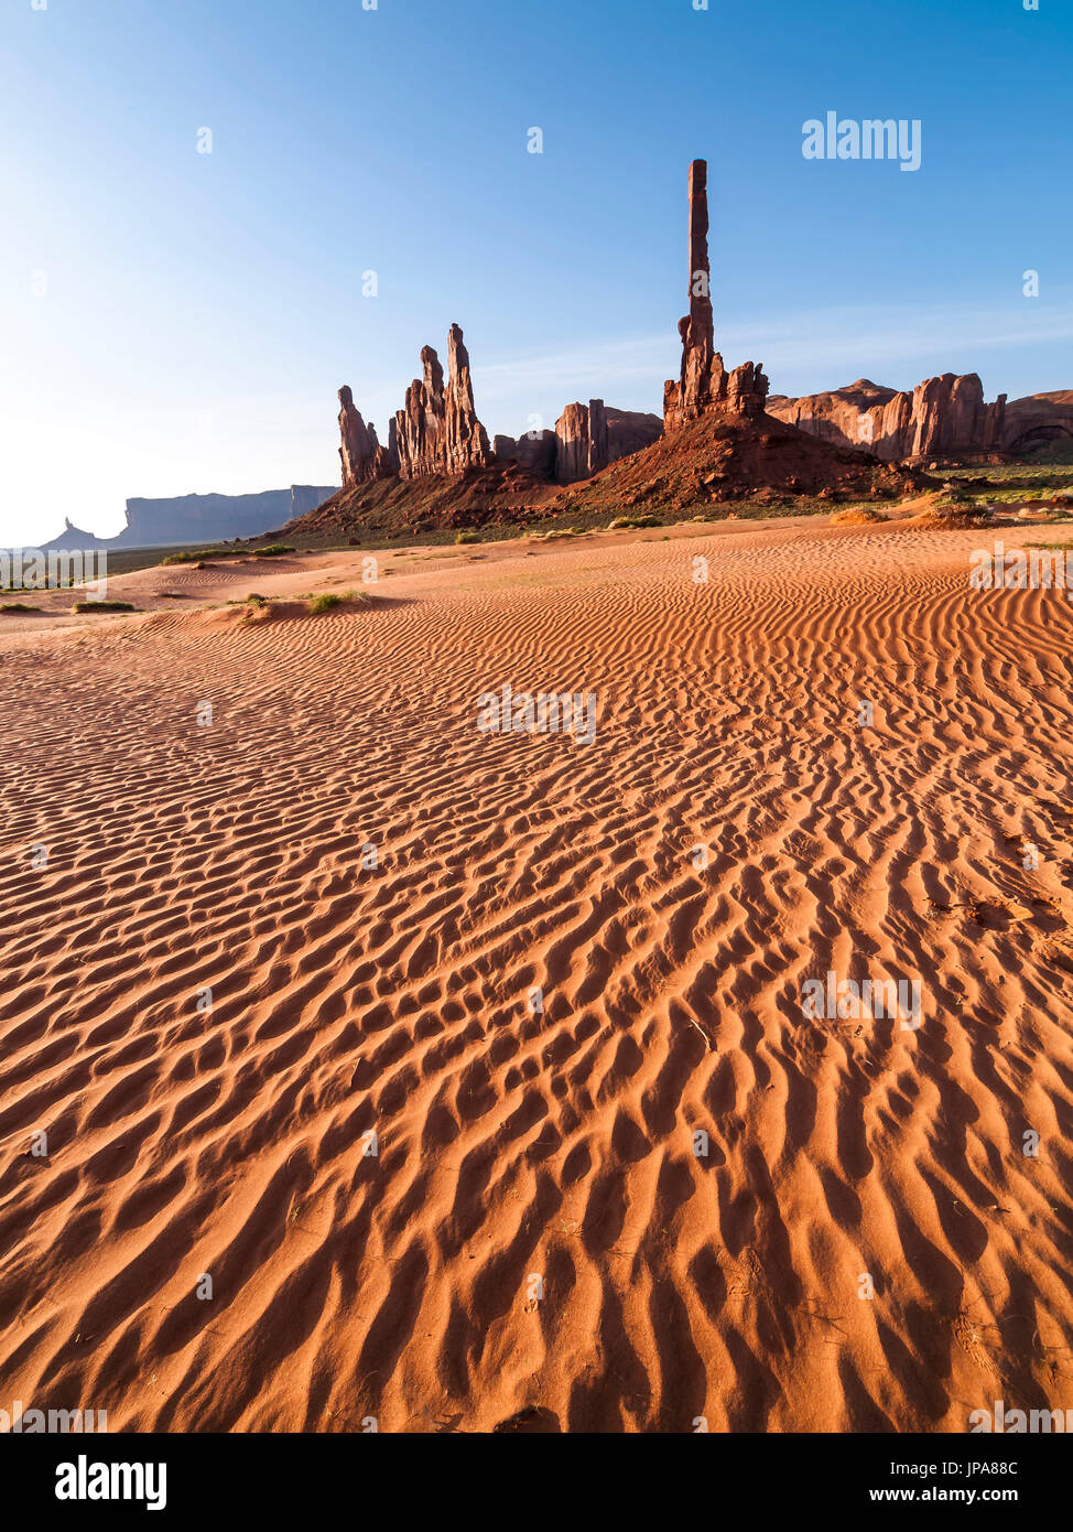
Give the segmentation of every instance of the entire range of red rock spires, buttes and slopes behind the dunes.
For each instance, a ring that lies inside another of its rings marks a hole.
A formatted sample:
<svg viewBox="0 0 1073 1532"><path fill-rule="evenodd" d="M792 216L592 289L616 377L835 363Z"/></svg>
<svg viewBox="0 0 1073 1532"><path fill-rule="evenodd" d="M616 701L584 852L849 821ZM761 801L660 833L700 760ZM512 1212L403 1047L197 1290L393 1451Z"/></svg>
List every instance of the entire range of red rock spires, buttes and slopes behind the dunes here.
<svg viewBox="0 0 1073 1532"><path fill-rule="evenodd" d="M351 389L340 389L343 495L390 480L410 484L424 506L438 495L433 481L448 486L459 478L470 496L517 499L528 486L539 499L539 492L569 484L580 486L582 501L621 493L628 504L677 506L768 490L883 495L914 487L921 478L917 466L929 458L987 457L1073 437L1068 395L1019 400L1009 409L1001 395L987 404L975 372L928 378L912 392L862 378L831 394L768 398L759 363L729 371L715 349L703 159L689 167L689 314L678 332L681 368L664 385L663 420L594 398L568 404L554 430L497 435L490 443L473 401L462 331L452 325L447 381L435 349L426 346L421 377L406 391L386 446L363 421ZM395 489L386 486L384 493L393 496ZM419 515L426 513L427 506Z"/></svg>

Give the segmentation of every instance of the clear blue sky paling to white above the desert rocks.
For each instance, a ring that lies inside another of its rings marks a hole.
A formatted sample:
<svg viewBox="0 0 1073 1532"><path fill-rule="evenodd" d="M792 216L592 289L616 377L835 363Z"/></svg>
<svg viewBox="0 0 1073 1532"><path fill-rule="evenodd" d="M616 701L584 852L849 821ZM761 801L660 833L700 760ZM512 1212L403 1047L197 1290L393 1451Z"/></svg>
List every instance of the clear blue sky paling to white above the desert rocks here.
<svg viewBox="0 0 1073 1532"><path fill-rule="evenodd" d="M493 434L660 411L692 158L716 340L773 392L1073 388L1071 11L3 0L0 544L334 484L338 386L386 437L455 320ZM920 170L807 161L827 110L918 118Z"/></svg>

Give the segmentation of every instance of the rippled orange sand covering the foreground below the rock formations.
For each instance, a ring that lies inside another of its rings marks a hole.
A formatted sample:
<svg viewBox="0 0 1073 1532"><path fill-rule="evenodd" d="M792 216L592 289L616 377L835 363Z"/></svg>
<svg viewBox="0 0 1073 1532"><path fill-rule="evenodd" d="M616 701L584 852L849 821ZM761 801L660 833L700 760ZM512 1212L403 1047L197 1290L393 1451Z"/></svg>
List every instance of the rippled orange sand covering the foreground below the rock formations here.
<svg viewBox="0 0 1073 1532"><path fill-rule="evenodd" d="M191 610L349 553L0 630L0 1406L1073 1406L1073 614L970 594L978 541L686 529ZM504 682L595 691L595 741L478 732ZM920 979L923 1025L804 1019L828 968Z"/></svg>

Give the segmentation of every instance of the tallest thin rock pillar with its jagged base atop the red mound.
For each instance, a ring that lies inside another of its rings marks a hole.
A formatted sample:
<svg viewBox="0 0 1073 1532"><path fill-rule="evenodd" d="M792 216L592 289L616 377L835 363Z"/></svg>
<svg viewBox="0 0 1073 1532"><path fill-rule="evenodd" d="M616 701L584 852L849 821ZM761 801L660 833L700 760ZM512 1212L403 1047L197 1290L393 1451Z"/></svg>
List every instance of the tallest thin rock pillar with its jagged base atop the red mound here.
<svg viewBox="0 0 1073 1532"><path fill-rule="evenodd" d="M707 251L707 161L689 167L689 314L678 322L681 374L663 386L663 429L678 430L687 420L706 417L756 418L764 414L767 378L744 362L733 372L715 349L712 273Z"/></svg>

